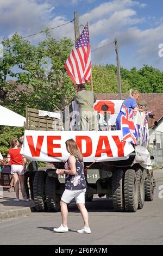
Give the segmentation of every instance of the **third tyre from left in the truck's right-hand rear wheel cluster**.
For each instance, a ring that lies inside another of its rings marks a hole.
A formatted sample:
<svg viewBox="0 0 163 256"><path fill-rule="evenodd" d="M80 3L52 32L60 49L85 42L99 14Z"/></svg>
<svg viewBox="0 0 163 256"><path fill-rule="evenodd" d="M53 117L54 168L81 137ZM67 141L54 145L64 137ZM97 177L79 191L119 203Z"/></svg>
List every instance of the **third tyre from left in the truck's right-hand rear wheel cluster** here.
<svg viewBox="0 0 163 256"><path fill-rule="evenodd" d="M137 186L139 191L138 209L143 209L143 205L145 203L145 183L143 179L142 170L138 168L135 171L136 171Z"/></svg>

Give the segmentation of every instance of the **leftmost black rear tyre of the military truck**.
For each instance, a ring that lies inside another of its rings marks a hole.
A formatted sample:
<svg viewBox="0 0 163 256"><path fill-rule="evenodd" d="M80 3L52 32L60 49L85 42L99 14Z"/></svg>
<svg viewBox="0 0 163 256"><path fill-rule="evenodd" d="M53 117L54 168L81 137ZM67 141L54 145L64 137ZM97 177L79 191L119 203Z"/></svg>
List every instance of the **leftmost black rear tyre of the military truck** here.
<svg viewBox="0 0 163 256"><path fill-rule="evenodd" d="M34 177L34 202L36 211L46 211L46 197L45 197L45 184L46 184L46 172L44 170L38 170Z"/></svg>

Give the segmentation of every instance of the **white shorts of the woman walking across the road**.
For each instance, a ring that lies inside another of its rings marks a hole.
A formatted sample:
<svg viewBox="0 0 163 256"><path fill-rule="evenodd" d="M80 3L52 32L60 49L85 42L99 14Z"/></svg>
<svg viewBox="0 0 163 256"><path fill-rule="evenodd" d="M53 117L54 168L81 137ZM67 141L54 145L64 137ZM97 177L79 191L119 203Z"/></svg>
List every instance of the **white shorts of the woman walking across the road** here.
<svg viewBox="0 0 163 256"><path fill-rule="evenodd" d="M73 198L76 199L76 204L85 204L85 191L84 190L65 190L62 194L61 201L69 204Z"/></svg>

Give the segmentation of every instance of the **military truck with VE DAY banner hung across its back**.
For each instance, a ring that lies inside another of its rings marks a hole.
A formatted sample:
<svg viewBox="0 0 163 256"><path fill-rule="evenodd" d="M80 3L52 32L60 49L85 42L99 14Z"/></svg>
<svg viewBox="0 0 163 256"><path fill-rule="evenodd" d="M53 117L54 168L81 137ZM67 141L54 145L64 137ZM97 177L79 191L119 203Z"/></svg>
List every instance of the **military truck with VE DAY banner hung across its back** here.
<svg viewBox="0 0 163 256"><path fill-rule="evenodd" d="M64 161L68 157L64 144L68 138L76 140L84 157L86 201L91 202L93 195L98 194L99 198L112 198L116 211L135 212L143 208L145 201L153 200L155 181L147 150L147 117L137 113L139 124L135 123L135 132L137 130L139 145L123 141L122 130L115 130L115 118L121 104L122 101L96 103L95 109L97 112L102 110L100 114L105 121L100 131L66 131L58 116L45 113L41 117L37 109L27 108L27 130L22 154L30 160L54 164L46 171L35 172L34 202L37 211L60 210L65 175L58 176L56 169L64 168ZM128 118L127 121L131 120Z"/></svg>

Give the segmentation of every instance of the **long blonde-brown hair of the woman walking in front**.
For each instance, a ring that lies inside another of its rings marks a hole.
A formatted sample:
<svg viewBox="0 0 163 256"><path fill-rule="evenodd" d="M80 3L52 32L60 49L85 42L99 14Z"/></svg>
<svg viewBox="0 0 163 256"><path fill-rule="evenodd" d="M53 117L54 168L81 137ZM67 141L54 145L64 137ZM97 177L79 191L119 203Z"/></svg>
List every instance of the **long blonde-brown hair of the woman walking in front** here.
<svg viewBox="0 0 163 256"><path fill-rule="evenodd" d="M80 149L78 148L77 143L73 139L67 139L65 143L66 143L68 152L71 155L76 156L80 162L83 162L83 156L82 156L82 153L80 152Z"/></svg>

